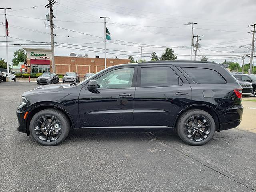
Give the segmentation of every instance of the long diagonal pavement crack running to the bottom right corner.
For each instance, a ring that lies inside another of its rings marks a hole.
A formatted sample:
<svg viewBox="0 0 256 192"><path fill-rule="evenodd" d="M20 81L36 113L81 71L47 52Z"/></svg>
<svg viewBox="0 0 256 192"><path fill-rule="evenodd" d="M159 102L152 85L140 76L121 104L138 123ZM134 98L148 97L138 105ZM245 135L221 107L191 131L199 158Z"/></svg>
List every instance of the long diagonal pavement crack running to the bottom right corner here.
<svg viewBox="0 0 256 192"><path fill-rule="evenodd" d="M174 148L173 146L170 146L170 145L167 144L166 142L163 142L163 141L160 140L158 137L156 137L154 134L152 134L152 132L147 132L147 133L150 134L151 136L153 136L154 138L156 138L158 141L160 141L160 142L162 142L163 144L165 144L166 146L168 146L168 147L170 147L170 148L173 148L174 150L180 152L181 154L187 156L188 158L190 158L190 159L192 159L192 160L194 160L194 161L196 161L196 162L202 164L203 166L205 166L205 167L207 167L207 168L213 170L214 172L216 172L216 173L218 173L218 174L221 174L222 176L224 176L224 177L226 177L226 178L228 178L228 179L230 179L230 180L232 180L232 181L234 181L234 182L236 182L236 183L238 183L238 184L241 184L242 186L244 186L244 187L246 187L246 188L248 188L248 189L253 190L253 191L256 192L256 190L255 190L254 188L250 188L250 187L246 186L245 184L243 184L243 183L241 183L241 182L239 182L239 181L236 181L236 180L230 178L230 177L227 176L226 174L224 174L224 173L222 173L222 172L219 172L218 170L215 170L214 168L212 168L212 167L210 167L210 166L204 164L203 162L200 162L199 160L196 160L195 158L189 156L188 154L185 154L185 153L182 152L181 150L178 150L178 149ZM177 146L177 145L176 145L176 146Z"/></svg>

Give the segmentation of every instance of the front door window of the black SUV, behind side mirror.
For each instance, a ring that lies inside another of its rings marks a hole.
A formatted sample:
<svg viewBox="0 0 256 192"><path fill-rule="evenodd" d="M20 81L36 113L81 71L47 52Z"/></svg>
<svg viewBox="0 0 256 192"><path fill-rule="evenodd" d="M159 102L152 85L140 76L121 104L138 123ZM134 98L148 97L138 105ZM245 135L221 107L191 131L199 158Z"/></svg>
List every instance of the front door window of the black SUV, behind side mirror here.
<svg viewBox="0 0 256 192"><path fill-rule="evenodd" d="M99 88L128 88L132 87L133 73L134 68L116 69L95 80Z"/></svg>

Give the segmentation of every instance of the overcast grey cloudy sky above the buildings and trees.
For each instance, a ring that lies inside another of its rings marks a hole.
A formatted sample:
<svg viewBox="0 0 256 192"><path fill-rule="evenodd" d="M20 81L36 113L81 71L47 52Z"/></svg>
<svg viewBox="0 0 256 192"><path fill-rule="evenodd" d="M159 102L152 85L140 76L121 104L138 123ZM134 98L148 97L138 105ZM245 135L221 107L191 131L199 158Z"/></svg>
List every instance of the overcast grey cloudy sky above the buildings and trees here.
<svg viewBox="0 0 256 192"><path fill-rule="evenodd" d="M150 60L155 51L160 57L164 49L172 47L178 60L190 60L191 26L194 36L201 37L198 58L210 61L232 60L242 64L248 54L252 34L247 32L256 23L255 0L57 0L54 6L54 42L56 56L88 54L104 57L104 23L112 40L107 42L108 58ZM22 47L50 48L49 22L45 20L48 0L1 1L7 10L9 24L9 60ZM33 8L34 7L34 8ZM4 10L0 10L4 22ZM4 26L0 25L0 57L6 58ZM22 44L14 46L13 44ZM239 48L239 46L244 46ZM245 48L247 47L247 48ZM249 52L250 53L250 52ZM194 55L193 55L194 57ZM246 58L245 63L249 61Z"/></svg>

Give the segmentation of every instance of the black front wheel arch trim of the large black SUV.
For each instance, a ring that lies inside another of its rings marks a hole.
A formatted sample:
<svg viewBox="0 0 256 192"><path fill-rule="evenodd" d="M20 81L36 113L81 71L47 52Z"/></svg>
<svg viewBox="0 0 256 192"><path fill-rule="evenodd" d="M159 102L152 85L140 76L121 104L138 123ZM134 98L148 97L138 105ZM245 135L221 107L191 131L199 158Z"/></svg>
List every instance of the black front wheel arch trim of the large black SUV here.
<svg viewBox="0 0 256 192"><path fill-rule="evenodd" d="M31 108L28 111L28 118L25 121L25 127L26 127L26 130L27 130L27 135L28 136L30 135L29 124L30 124L30 121L33 118L33 116L39 111L42 111L44 109L50 109L50 108L57 109L57 110L60 110L61 112L63 112L68 117L68 119L70 121L70 125L72 126L72 128L75 127L74 122L73 122L70 114L62 106L60 106L59 104L55 104L55 103L44 103L44 104L41 103L41 104L36 104L36 106L34 106L33 108Z"/></svg>

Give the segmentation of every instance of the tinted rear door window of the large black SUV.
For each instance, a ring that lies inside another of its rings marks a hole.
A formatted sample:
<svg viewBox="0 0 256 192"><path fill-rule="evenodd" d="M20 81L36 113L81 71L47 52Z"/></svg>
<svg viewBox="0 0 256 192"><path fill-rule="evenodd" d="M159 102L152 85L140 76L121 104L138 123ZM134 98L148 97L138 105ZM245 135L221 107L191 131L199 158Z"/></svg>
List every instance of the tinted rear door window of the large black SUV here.
<svg viewBox="0 0 256 192"><path fill-rule="evenodd" d="M178 85L179 78L170 67L142 67L140 86L172 86Z"/></svg>

